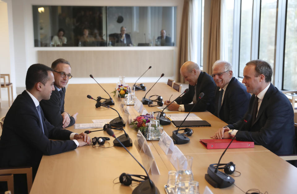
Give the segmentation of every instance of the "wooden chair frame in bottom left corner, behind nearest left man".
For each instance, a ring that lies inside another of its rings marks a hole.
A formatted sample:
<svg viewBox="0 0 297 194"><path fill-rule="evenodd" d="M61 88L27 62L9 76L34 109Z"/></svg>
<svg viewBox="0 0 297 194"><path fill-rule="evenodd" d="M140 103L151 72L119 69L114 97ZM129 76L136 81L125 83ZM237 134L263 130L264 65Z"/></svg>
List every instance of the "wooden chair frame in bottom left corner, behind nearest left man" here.
<svg viewBox="0 0 297 194"><path fill-rule="evenodd" d="M7 174L11 174L11 175L13 175L13 174L26 174L28 193L30 193L30 190L32 188L32 167L0 168L0 177L1 177L1 175L7 175ZM10 178L7 177L7 179L10 179ZM7 184L8 184L8 181L7 181ZM10 181L10 184L11 184L11 181ZM13 177L12 177L12 184L14 184L13 183ZM13 193L13 185L12 185L12 189L10 187L8 187L8 190L11 190L11 193Z"/></svg>

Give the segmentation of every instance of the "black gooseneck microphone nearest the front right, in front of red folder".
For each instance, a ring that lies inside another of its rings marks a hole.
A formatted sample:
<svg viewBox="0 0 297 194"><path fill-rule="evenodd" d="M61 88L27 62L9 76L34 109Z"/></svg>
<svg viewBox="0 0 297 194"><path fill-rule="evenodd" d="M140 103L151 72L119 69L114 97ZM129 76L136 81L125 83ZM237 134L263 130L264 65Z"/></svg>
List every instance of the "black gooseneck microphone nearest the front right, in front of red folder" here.
<svg viewBox="0 0 297 194"><path fill-rule="evenodd" d="M245 118L243 119L243 123L240 127L239 130L241 130L243 128L243 126L248 122L248 120L251 119L251 115L247 114L245 116ZM213 186L214 188L226 188L226 187L230 187L235 180L230 177L229 175L227 175L226 173L223 173L221 171L218 170L218 167L220 166L220 162L221 159L223 157L223 155L225 154L225 152L227 151L227 149L229 148L230 144L232 143L232 141L234 140L235 136L232 138L232 140L230 141L229 145L227 146L227 148L225 149L225 151L222 153L219 162L217 163L216 168L214 168L214 165L216 164L211 164L209 165L208 169L207 169L207 174L204 175L204 179L211 184L211 186Z"/></svg>

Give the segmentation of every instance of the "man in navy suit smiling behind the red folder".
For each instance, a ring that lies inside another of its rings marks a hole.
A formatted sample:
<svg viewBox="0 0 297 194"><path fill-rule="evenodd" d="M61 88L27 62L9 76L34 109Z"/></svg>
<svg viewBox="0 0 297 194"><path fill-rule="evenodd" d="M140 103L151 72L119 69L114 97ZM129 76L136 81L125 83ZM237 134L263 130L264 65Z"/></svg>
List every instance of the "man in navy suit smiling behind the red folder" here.
<svg viewBox="0 0 297 194"><path fill-rule="evenodd" d="M294 153L294 112L288 98L270 83L270 65L262 60L250 61L243 69L243 76L242 83L248 93L253 93L244 116L250 114L251 119L245 125L241 119L220 128L211 137L226 139L236 135L236 140L254 141L277 155Z"/></svg>

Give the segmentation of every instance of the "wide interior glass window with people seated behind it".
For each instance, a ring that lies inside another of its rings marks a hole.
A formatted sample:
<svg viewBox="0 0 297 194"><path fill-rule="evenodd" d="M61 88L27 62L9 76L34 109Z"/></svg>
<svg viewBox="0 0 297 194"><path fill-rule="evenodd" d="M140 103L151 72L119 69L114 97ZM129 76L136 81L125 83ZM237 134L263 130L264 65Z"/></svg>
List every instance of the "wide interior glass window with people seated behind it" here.
<svg viewBox="0 0 297 194"><path fill-rule="evenodd" d="M174 46L176 7L33 5L35 47Z"/></svg>

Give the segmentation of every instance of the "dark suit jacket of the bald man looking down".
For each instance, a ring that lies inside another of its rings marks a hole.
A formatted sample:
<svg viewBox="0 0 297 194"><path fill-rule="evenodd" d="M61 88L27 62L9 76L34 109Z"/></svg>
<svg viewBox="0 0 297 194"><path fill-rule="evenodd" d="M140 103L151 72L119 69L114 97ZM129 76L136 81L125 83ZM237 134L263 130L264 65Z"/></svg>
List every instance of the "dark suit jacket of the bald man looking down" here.
<svg viewBox="0 0 297 194"><path fill-rule="evenodd" d="M189 104L193 101L193 97L195 94L195 86L189 84L189 91L185 93L182 97L179 97L176 102L178 104L183 104L185 107L185 111L189 112L194 104ZM198 104L193 109L194 112L203 112L208 110L209 112L214 112L214 89L216 84L213 81L213 78L207 73L201 71L196 85L196 99L198 101L199 94L201 92L204 93L204 97L202 97Z"/></svg>

